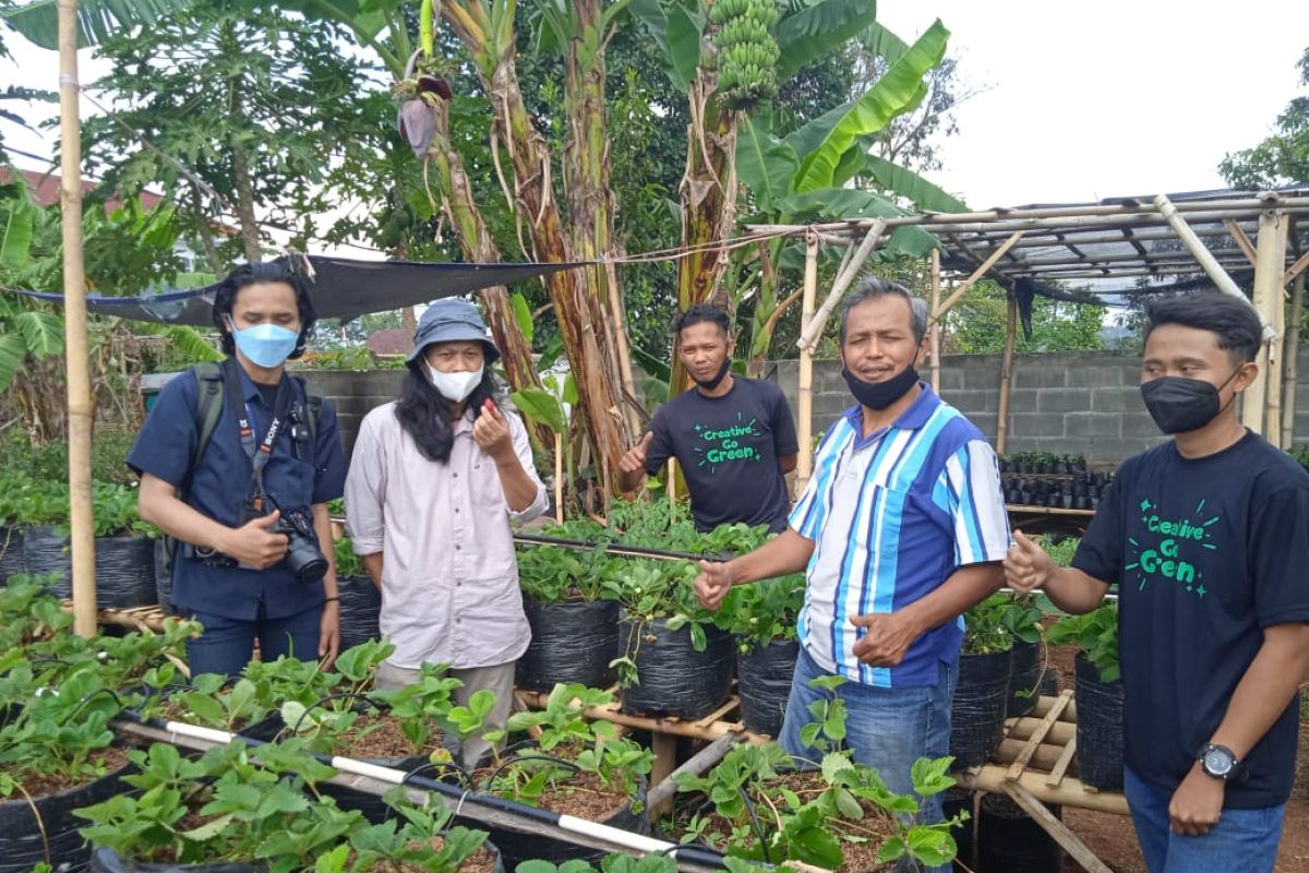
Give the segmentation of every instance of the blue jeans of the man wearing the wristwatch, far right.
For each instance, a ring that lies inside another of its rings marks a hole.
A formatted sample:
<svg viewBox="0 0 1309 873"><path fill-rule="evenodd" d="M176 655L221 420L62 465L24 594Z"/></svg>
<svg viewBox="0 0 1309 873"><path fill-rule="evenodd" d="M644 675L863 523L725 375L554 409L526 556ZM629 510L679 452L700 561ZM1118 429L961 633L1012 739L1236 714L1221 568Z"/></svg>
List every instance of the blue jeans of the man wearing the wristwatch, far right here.
<svg viewBox="0 0 1309 873"><path fill-rule="evenodd" d="M1224 809L1203 836L1169 828L1173 796L1123 771L1123 793L1149 873L1271 873L1282 840L1285 804L1263 809Z"/></svg>

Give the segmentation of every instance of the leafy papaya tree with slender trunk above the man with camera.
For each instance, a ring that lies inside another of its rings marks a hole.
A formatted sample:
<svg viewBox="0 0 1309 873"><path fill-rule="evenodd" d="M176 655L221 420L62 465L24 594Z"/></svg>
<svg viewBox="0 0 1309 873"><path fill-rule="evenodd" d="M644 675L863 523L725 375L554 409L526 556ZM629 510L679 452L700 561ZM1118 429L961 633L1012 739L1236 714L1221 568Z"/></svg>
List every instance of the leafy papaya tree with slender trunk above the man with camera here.
<svg viewBox="0 0 1309 873"><path fill-rule="evenodd" d="M232 204L242 254L259 260L260 224L302 228L325 169L352 148L353 96L370 69L340 45L336 27L221 0L110 35L98 90L118 109L86 119L88 166L103 169L107 191L162 183L213 272L225 271L213 219Z"/></svg>

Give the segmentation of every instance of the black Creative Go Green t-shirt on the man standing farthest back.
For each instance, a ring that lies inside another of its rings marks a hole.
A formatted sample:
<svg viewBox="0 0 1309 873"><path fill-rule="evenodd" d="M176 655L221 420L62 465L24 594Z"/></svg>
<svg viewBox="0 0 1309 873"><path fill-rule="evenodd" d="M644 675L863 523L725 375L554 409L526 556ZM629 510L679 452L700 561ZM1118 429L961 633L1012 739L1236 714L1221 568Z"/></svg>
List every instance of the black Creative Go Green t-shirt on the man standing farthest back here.
<svg viewBox="0 0 1309 873"><path fill-rule="evenodd" d="M798 449L791 407L774 382L733 376L723 397L692 387L654 412L651 432L645 470L654 475L677 458L699 530L737 521L774 533L787 526L791 499L778 458Z"/></svg>

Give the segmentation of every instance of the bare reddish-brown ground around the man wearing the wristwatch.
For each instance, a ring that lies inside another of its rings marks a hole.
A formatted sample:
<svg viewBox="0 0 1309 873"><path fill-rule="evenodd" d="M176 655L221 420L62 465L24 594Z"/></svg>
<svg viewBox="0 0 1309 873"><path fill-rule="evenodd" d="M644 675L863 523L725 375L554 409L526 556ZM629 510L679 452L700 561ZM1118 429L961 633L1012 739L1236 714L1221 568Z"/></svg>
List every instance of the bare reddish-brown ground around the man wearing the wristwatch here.
<svg viewBox="0 0 1309 873"><path fill-rule="evenodd" d="M1073 658L1077 647L1050 649L1050 660L1059 671L1059 687L1073 685ZM1301 694L1309 692L1309 686ZM1147 873L1131 821L1111 813L1096 813L1064 806L1063 821L1100 860L1114 873ZM1081 866L1064 856L1063 873L1081 873ZM1275 873L1309 873L1309 719L1301 709L1300 754L1296 758L1296 784L1287 801L1278 849Z"/></svg>

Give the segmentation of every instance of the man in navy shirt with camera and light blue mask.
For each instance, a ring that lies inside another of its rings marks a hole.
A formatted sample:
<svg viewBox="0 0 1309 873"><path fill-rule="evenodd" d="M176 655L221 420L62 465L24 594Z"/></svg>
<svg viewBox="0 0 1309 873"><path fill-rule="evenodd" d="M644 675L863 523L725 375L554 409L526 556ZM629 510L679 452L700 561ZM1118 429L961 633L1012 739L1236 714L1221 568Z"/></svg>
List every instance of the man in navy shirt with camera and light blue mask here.
<svg viewBox="0 0 1309 873"><path fill-rule="evenodd" d="M170 381L127 457L141 520L177 541L173 610L204 626L192 675L237 675L255 637L264 660L336 657L327 501L346 459L331 406L285 373L314 321L284 262L234 270L213 300L228 359Z"/></svg>

